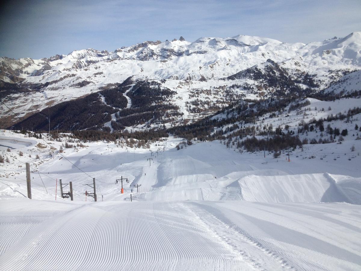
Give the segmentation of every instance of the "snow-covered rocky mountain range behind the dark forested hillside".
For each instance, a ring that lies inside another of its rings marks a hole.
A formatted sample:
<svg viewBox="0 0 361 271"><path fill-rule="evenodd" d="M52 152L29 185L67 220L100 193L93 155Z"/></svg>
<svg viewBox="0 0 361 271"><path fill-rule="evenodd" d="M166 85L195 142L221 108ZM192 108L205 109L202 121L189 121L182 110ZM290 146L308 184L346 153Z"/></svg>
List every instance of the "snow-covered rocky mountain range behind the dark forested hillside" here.
<svg viewBox="0 0 361 271"><path fill-rule="evenodd" d="M156 80L177 93L170 102L179 108L183 120L192 120L201 117L192 105L197 104L194 98L214 103L217 110L230 103L229 92L260 99L292 89L319 91L360 69L360 31L308 44L245 35L202 37L195 42L181 37L112 52L84 49L38 60L0 57L0 86L3 101L18 116L27 117L48 105L116 87L128 77L133 82ZM359 77L349 78L357 81ZM357 83L353 86L356 89L345 91L357 90ZM212 87L217 93L199 94ZM0 106L1 126L18 121L4 104ZM202 113L213 112L210 107L207 104Z"/></svg>

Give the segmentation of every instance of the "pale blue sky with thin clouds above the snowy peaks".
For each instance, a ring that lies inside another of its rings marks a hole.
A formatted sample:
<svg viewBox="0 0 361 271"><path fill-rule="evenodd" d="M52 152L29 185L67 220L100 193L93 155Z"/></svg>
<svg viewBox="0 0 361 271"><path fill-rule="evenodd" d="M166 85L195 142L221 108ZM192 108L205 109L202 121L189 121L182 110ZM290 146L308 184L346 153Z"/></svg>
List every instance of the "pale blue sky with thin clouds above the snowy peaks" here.
<svg viewBox="0 0 361 271"><path fill-rule="evenodd" d="M360 14L360 0L14 0L0 7L0 56L113 51L179 36L193 42L242 34L308 43L361 31Z"/></svg>

